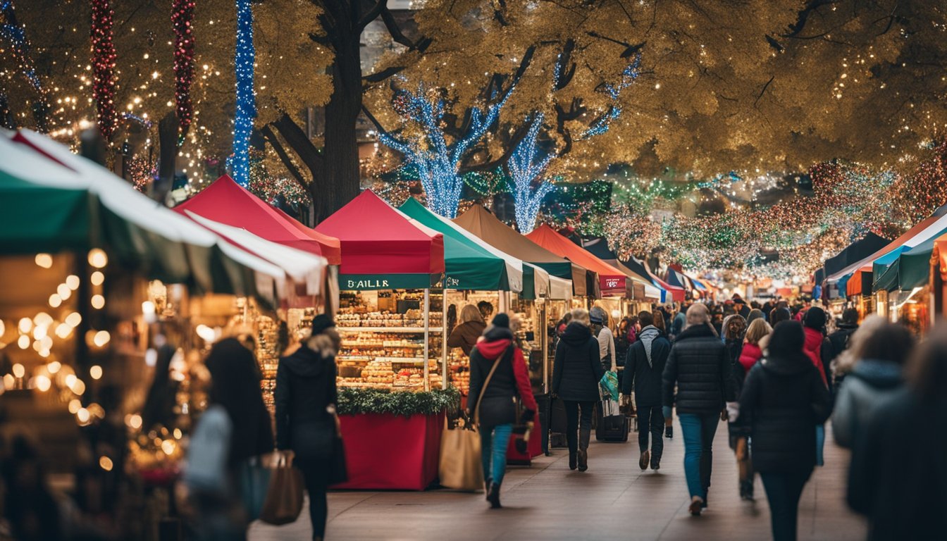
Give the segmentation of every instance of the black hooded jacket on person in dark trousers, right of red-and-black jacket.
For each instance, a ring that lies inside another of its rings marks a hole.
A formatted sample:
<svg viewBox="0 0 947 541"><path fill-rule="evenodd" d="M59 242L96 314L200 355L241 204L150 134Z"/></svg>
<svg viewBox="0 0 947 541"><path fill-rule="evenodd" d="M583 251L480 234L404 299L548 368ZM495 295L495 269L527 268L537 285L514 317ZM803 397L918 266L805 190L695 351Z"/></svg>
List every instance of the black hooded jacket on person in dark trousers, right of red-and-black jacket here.
<svg viewBox="0 0 947 541"><path fill-rule="evenodd" d="M588 327L569 323L556 345L552 392L563 400L596 402L599 380L605 375L599 360L599 340Z"/></svg>

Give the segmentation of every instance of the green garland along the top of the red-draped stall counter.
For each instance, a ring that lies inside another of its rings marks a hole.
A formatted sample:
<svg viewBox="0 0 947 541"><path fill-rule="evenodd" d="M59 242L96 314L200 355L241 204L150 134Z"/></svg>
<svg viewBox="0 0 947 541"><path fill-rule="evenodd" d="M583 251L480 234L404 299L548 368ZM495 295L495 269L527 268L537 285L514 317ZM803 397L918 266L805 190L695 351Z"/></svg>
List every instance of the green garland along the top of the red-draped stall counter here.
<svg viewBox="0 0 947 541"><path fill-rule="evenodd" d="M394 415L433 415L456 412L460 392L456 388L425 392L391 391L384 388L339 388L340 415L391 413Z"/></svg>

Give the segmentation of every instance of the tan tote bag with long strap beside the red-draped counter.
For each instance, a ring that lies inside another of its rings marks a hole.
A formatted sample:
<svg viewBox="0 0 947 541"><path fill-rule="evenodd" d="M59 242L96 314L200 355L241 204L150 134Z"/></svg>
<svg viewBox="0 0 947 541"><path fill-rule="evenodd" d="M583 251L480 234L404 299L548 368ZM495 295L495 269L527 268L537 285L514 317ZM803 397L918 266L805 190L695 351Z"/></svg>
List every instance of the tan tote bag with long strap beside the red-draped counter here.
<svg viewBox="0 0 947 541"><path fill-rule="evenodd" d="M464 419L463 425L458 424L456 428L444 430L440 439L438 468L442 486L468 491L483 488L483 461L480 456L480 433L477 421L480 416L480 401L483 400L483 393L490 385L493 372L502 358L502 356L497 358L493 363L490 374L483 382L483 388L480 389L480 396L476 401L473 422L470 419Z"/></svg>

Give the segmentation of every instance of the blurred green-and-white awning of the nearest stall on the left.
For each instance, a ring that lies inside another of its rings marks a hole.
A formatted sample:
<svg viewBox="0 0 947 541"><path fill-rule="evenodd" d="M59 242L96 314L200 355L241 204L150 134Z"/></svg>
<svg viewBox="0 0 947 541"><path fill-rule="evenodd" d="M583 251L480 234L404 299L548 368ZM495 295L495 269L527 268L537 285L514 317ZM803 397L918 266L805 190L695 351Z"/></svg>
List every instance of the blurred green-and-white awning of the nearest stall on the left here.
<svg viewBox="0 0 947 541"><path fill-rule="evenodd" d="M2 255L98 247L148 279L269 304L282 295L287 272L276 262L224 241L42 135L0 137L0 156Z"/></svg>

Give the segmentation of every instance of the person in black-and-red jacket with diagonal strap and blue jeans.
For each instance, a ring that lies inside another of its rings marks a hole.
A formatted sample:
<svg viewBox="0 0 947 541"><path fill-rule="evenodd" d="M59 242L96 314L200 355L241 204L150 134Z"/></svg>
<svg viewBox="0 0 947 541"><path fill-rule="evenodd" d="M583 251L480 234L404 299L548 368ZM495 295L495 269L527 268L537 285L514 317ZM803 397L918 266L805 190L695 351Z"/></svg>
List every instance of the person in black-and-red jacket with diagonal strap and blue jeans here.
<svg viewBox="0 0 947 541"><path fill-rule="evenodd" d="M510 330L509 316L500 313L493 317L491 327L471 352L467 402L474 423L479 424L484 489L491 509L501 507L500 487L507 470L509 438L516 424L517 396L524 408L520 422L529 423L539 407L529 385L523 351L516 346Z"/></svg>

